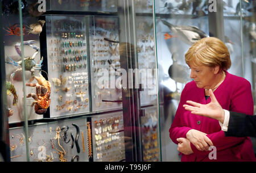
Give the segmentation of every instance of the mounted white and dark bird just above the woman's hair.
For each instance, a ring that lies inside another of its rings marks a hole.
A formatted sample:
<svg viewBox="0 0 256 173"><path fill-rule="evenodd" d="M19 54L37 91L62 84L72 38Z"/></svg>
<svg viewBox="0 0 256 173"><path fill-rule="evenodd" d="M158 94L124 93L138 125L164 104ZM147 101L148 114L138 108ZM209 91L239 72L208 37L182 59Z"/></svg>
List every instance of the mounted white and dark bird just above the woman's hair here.
<svg viewBox="0 0 256 173"><path fill-rule="evenodd" d="M184 43L192 45L196 41L209 37L204 31L195 26L175 26L166 20L162 20L163 24L166 25L170 30Z"/></svg>

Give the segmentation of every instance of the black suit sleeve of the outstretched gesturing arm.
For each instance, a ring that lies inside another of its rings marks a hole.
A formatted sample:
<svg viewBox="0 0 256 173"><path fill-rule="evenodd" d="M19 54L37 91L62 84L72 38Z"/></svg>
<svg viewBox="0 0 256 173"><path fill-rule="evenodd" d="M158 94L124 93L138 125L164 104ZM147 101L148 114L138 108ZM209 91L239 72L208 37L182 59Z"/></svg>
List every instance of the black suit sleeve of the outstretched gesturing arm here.
<svg viewBox="0 0 256 173"><path fill-rule="evenodd" d="M228 132L224 133L225 136L256 137L256 115L250 116L230 111Z"/></svg>

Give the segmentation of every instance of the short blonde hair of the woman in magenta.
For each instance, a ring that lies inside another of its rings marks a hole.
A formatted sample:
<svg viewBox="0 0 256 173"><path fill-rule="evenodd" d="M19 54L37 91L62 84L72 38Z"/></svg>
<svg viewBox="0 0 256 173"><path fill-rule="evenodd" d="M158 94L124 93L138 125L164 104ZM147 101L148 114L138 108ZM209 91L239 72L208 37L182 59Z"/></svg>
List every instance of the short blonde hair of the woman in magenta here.
<svg viewBox="0 0 256 173"><path fill-rule="evenodd" d="M193 44L185 54L185 62L196 66L220 66L221 70L228 70L231 66L229 50L216 37L205 37Z"/></svg>

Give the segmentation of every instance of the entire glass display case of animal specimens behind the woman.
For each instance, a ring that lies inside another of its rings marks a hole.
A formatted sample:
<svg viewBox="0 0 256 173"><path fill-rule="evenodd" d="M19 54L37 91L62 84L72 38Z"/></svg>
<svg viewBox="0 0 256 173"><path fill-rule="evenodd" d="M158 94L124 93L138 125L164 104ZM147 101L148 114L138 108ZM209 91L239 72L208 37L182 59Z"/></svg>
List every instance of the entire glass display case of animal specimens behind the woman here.
<svg viewBox="0 0 256 173"><path fill-rule="evenodd" d="M225 42L229 72L246 78L256 98L255 1L1 6L5 161L180 161L169 128L192 81L184 55L203 37Z"/></svg>

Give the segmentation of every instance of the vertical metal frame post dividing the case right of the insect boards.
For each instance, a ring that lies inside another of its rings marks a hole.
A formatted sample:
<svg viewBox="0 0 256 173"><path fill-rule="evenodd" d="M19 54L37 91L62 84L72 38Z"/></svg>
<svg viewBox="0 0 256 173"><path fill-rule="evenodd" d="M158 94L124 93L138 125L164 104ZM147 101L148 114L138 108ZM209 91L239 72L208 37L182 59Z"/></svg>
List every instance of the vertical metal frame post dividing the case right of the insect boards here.
<svg viewBox="0 0 256 173"><path fill-rule="evenodd" d="M118 1L118 18L119 43L125 44L126 48L126 53L120 53L120 63L121 68L128 72L129 69L138 69L134 1ZM127 74L129 76L129 73ZM135 81L134 76L132 79ZM132 145L131 149L126 146L126 161L138 162L143 161L139 89L134 88L134 83L129 81L129 77L126 82L127 88L122 87L123 126L125 137L129 138L125 142Z"/></svg>

